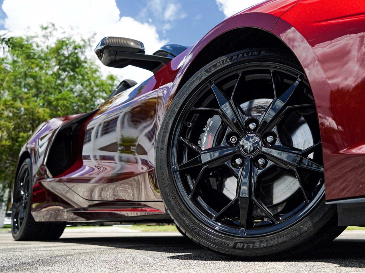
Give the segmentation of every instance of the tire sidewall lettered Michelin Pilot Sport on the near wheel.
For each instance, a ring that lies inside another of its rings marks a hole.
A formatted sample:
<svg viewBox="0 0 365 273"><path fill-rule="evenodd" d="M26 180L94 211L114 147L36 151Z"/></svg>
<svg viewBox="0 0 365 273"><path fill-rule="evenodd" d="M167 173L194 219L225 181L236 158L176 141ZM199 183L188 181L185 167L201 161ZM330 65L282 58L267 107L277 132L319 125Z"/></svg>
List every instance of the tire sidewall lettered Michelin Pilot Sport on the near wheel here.
<svg viewBox="0 0 365 273"><path fill-rule="evenodd" d="M233 54L218 58L203 67L177 93L161 124L157 138L155 161L156 169L158 170L156 172L157 181L160 186L161 197L176 225L188 237L200 245L234 256L266 256L283 252L284 250L293 254L298 246L307 247L309 244L308 238L315 237L320 228L326 225L335 214L335 206L326 205L324 196L306 217L280 232L262 237L233 237L205 226L190 213L188 207L177 193L170 167L170 147L173 135L171 132L174 130L175 120L184 102L192 96L194 90L207 77L211 77L237 64L252 62L286 64L301 71L296 61L285 52L263 49L234 52Z"/></svg>

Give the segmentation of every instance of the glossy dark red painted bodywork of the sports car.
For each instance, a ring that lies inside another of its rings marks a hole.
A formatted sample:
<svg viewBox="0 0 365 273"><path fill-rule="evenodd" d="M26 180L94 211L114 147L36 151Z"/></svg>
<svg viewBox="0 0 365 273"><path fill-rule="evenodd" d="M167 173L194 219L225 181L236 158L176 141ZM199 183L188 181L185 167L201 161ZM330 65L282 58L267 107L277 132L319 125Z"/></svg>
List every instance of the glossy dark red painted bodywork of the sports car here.
<svg viewBox="0 0 365 273"><path fill-rule="evenodd" d="M154 153L166 109L201 50L242 27L276 35L307 74L322 135L326 199L365 195L365 2L272 0L224 20L153 77L103 103L82 128L82 159L55 178L44 166L49 141L79 115L39 126L21 151L33 163L36 220L115 221L164 214Z"/></svg>

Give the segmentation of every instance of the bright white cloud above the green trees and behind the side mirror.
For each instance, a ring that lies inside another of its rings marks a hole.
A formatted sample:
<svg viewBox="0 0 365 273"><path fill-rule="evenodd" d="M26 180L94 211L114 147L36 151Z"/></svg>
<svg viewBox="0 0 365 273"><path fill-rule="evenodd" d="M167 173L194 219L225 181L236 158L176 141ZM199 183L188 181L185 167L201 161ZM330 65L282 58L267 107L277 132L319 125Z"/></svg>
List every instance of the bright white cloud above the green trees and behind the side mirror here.
<svg viewBox="0 0 365 273"><path fill-rule="evenodd" d="M8 16L5 28L10 35L32 34L39 31L40 25L51 22L56 27L71 32L76 39L87 39L95 34L95 46L105 36L128 37L142 41L146 53L151 54L168 42L160 39L156 27L150 23L141 23L131 17L119 18L120 11L115 1L4 0L2 8ZM114 74L120 80L133 79L141 82L152 75L150 71L132 66L122 69L103 66L92 49L87 55L95 58L104 75Z"/></svg>

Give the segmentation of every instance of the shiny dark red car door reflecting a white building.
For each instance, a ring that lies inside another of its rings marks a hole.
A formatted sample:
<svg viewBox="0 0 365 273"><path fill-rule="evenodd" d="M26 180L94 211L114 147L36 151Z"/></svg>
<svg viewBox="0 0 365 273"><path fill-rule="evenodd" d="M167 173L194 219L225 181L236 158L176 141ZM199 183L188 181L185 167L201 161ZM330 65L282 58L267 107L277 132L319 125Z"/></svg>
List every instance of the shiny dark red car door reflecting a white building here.
<svg viewBox="0 0 365 273"><path fill-rule="evenodd" d="M154 201L158 86L152 77L108 99L88 122L83 166L64 183L97 201Z"/></svg>

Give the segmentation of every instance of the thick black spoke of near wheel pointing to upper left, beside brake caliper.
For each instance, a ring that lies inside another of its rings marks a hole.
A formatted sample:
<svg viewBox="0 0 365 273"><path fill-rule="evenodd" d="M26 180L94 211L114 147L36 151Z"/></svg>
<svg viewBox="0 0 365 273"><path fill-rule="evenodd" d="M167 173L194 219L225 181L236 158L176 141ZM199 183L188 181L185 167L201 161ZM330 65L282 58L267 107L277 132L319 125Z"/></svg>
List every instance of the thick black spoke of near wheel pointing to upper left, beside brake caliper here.
<svg viewBox="0 0 365 273"><path fill-rule="evenodd" d="M211 88L213 90L213 93L215 95L215 98L218 101L219 104L219 112L223 118L223 120L227 123L229 127L231 127L232 130L243 134L243 124L239 122L239 119L237 119L234 107L231 105L229 99L224 95L218 87L212 82Z"/></svg>

